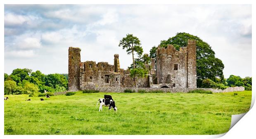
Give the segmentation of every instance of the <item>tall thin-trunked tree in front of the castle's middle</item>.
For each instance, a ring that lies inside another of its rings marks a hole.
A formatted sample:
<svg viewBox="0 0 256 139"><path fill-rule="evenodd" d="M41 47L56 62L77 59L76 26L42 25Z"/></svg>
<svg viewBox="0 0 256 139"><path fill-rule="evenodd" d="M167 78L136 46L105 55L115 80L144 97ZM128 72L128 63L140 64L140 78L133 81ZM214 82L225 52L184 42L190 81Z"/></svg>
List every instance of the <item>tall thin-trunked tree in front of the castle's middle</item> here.
<svg viewBox="0 0 256 139"><path fill-rule="evenodd" d="M141 57L143 53L143 49L140 46L140 40L136 37L133 36L133 34L126 34L126 37L124 37L120 42L119 42L119 47L121 46L123 49L126 49L126 52L128 55L132 54L133 56L133 68L130 69L130 75L133 78L137 77L144 77L145 73L142 68L136 68L135 67L135 58L134 58L134 53L136 52L138 57ZM137 81L135 79L135 87L137 87Z"/></svg>

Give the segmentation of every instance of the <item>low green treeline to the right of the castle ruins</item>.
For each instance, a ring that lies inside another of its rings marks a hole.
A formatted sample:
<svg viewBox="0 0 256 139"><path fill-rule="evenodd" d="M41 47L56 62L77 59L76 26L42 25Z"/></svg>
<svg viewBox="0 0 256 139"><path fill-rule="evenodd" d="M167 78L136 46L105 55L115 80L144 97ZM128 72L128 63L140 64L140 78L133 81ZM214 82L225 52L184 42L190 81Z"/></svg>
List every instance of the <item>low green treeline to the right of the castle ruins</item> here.
<svg viewBox="0 0 256 139"><path fill-rule="evenodd" d="M228 87L244 87L245 90L251 90L251 77L241 78L240 76L230 75L228 79L220 80L216 78L215 82L211 79L204 79L201 88L226 89Z"/></svg>

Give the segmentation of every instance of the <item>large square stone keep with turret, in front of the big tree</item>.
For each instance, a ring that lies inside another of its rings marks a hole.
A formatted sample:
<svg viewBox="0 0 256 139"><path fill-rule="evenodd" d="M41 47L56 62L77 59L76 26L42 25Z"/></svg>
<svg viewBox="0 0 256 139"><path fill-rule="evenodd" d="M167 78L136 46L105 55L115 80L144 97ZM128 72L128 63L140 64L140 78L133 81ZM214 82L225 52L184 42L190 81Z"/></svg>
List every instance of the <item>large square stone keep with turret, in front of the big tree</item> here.
<svg viewBox="0 0 256 139"><path fill-rule="evenodd" d="M172 84L178 88L196 88L196 41L176 50L172 45L156 50L157 84Z"/></svg>

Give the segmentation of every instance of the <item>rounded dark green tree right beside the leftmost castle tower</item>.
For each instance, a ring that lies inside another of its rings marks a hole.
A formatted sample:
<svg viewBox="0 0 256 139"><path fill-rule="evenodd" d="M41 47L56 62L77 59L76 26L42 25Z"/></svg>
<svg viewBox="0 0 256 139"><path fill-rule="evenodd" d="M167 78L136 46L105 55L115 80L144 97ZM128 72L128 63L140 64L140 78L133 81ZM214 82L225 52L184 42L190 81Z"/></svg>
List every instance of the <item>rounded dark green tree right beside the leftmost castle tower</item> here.
<svg viewBox="0 0 256 139"><path fill-rule="evenodd" d="M52 88L56 88L59 85L68 89L68 81L63 75L58 73L46 75L45 85Z"/></svg>

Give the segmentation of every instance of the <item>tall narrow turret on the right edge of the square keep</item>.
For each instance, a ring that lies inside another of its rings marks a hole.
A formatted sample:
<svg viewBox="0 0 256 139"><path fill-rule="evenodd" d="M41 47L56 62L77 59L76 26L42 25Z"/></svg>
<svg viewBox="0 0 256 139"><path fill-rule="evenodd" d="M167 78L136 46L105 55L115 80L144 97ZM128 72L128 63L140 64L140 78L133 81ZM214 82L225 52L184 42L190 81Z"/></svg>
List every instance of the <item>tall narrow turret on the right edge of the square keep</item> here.
<svg viewBox="0 0 256 139"><path fill-rule="evenodd" d="M187 40L187 88L197 88L197 57L195 40Z"/></svg>

